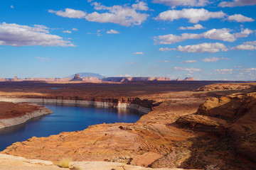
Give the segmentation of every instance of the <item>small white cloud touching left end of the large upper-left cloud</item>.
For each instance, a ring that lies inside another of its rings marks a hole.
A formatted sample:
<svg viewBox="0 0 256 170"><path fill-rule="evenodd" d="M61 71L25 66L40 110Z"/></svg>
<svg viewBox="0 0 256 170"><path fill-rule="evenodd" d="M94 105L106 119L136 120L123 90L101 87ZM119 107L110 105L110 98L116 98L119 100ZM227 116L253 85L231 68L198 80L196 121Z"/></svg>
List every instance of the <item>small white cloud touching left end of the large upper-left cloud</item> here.
<svg viewBox="0 0 256 170"><path fill-rule="evenodd" d="M85 18L86 13L84 11L75 10L72 8L65 8L65 11L53 11L48 10L49 13L55 13L57 16L63 16L67 18Z"/></svg>

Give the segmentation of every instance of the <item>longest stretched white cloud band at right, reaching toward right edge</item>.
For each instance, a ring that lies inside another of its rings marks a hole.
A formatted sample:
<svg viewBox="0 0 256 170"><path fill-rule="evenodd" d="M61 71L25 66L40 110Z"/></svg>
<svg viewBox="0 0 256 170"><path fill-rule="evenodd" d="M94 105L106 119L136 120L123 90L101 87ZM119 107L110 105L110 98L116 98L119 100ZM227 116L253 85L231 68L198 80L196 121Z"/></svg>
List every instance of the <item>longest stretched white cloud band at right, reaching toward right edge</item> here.
<svg viewBox="0 0 256 170"><path fill-rule="evenodd" d="M200 38L208 38L210 40L223 40L228 42L234 42L237 38L245 38L251 33L253 30L248 28L242 29L240 33L230 33L232 30L227 28L222 29L212 29L208 30L205 33L194 34L194 33L183 33L181 35L159 35L154 37L154 41L156 44L173 44L175 42L181 42L183 40L188 39L200 39Z"/></svg>

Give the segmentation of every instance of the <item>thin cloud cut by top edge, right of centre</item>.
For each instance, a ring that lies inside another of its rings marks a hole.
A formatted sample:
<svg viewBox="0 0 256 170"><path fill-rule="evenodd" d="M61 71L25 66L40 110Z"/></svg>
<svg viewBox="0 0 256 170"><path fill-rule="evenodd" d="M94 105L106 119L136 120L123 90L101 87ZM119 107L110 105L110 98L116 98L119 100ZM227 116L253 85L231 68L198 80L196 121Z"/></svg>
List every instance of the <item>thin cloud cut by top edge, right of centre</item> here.
<svg viewBox="0 0 256 170"><path fill-rule="evenodd" d="M153 0L153 3L164 4L166 6L206 6L208 0Z"/></svg>

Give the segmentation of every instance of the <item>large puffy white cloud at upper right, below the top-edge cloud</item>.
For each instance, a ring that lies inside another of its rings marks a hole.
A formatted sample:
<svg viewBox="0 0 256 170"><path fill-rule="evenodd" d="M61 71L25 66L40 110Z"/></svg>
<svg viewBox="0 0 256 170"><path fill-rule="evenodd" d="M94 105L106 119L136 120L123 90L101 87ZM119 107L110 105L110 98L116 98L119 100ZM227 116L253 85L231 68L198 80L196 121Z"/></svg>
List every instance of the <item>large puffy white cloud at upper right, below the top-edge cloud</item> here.
<svg viewBox="0 0 256 170"><path fill-rule="evenodd" d="M157 20L174 21L180 18L187 18L190 23L198 23L199 21L208 21L210 18L224 18L226 14L223 11L210 12L204 8L183 8L179 10L169 10L159 13Z"/></svg>

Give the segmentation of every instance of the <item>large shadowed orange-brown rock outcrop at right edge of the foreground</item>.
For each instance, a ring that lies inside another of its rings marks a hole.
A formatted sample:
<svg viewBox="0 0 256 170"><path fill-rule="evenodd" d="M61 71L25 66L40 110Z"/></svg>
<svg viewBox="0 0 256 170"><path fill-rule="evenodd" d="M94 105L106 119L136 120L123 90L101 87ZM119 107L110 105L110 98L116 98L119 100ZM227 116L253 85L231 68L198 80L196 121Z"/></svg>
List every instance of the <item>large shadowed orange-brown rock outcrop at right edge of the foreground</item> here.
<svg viewBox="0 0 256 170"><path fill-rule="evenodd" d="M230 139L237 154L256 162L255 92L208 98L197 114L183 116L176 123Z"/></svg>

